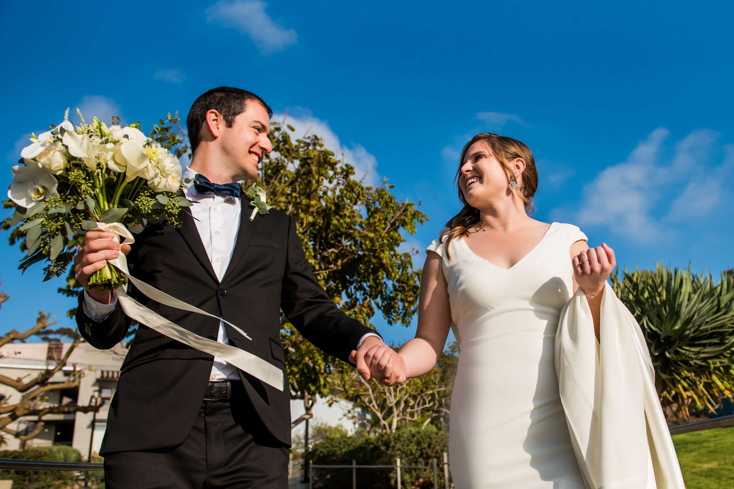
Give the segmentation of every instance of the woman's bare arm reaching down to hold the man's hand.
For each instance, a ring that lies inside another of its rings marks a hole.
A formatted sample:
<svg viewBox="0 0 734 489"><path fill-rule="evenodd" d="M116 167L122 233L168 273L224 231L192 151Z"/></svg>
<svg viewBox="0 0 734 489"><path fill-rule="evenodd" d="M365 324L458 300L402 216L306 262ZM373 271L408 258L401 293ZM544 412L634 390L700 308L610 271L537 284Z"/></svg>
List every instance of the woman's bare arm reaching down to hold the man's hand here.
<svg viewBox="0 0 734 489"><path fill-rule="evenodd" d="M451 307L443 276L441 257L429 251L421 277L418 301L418 331L400 349L407 378L418 377L435 367L451 328Z"/></svg>

